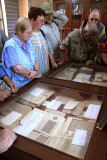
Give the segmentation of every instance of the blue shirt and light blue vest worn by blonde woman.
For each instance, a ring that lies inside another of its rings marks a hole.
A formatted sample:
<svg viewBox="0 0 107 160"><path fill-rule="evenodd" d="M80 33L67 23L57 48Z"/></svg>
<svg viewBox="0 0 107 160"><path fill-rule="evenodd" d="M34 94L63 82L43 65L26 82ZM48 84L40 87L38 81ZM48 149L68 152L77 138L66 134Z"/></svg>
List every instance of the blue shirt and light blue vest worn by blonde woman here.
<svg viewBox="0 0 107 160"><path fill-rule="evenodd" d="M2 64L7 76L16 83L18 88L23 87L32 79L25 78L14 72L11 67L21 65L28 70L34 70L35 62L38 60L31 42L26 41L26 50L24 44L16 37L9 39L2 52Z"/></svg>

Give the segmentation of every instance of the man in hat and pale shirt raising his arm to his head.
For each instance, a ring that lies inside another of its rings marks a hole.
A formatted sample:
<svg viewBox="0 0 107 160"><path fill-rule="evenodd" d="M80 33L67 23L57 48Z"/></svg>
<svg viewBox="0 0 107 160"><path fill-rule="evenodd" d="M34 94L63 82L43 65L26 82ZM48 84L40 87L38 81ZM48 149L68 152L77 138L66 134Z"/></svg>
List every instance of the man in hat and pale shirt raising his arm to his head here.
<svg viewBox="0 0 107 160"><path fill-rule="evenodd" d="M54 52L53 56L55 62L59 62L60 64L60 29L68 22L68 18L62 11L54 12L49 2L42 3L41 9L46 13L45 24L41 29L47 35L48 40L50 41Z"/></svg>

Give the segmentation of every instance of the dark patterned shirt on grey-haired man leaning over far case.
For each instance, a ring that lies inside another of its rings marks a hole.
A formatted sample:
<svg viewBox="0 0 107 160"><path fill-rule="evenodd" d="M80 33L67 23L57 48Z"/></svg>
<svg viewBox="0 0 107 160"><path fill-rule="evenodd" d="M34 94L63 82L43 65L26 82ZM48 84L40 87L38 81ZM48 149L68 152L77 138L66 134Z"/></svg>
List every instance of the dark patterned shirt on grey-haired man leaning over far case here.
<svg viewBox="0 0 107 160"><path fill-rule="evenodd" d="M82 35L82 29L70 32L60 43L60 49L68 48L68 60L72 62L83 62L94 60L97 55L97 40L85 41Z"/></svg>

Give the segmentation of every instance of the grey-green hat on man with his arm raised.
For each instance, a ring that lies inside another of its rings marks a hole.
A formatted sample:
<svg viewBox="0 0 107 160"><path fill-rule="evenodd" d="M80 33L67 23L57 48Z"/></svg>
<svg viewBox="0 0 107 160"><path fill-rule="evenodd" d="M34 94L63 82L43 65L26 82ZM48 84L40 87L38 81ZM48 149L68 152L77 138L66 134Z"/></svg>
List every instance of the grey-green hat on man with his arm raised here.
<svg viewBox="0 0 107 160"><path fill-rule="evenodd" d="M51 5L49 2L44 2L42 3L42 5L40 6L42 10L44 10L44 12L46 14L51 14L54 12L54 10L52 9Z"/></svg>

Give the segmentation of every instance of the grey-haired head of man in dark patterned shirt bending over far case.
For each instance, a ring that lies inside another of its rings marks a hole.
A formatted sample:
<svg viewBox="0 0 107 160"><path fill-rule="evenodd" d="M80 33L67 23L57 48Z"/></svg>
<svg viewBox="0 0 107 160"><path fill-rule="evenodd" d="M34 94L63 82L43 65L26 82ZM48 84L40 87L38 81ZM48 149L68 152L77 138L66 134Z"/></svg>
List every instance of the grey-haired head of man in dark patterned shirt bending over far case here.
<svg viewBox="0 0 107 160"><path fill-rule="evenodd" d="M95 23L87 23L83 29L83 37L86 41L94 40L98 33L98 27Z"/></svg>

